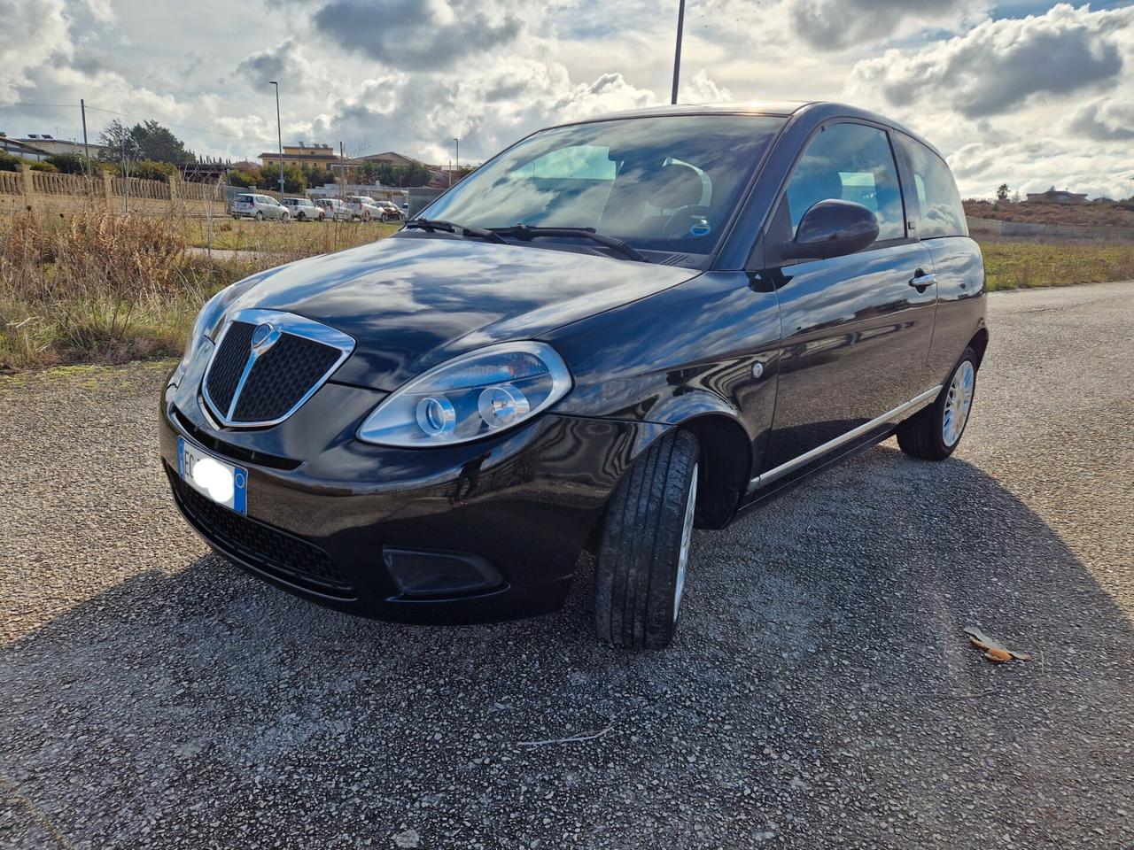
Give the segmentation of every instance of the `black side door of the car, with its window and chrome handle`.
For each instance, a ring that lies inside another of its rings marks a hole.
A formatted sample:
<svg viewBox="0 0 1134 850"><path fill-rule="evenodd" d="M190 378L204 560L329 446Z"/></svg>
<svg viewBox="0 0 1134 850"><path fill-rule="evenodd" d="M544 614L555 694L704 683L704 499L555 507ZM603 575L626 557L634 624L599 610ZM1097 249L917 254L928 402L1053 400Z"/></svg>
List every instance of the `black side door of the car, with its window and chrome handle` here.
<svg viewBox="0 0 1134 850"><path fill-rule="evenodd" d="M782 334L767 482L930 389L937 287L928 250L907 229L888 130L856 121L820 127L788 178L765 244L789 241L807 209L827 198L869 207L879 236L854 254L772 261L767 270Z"/></svg>

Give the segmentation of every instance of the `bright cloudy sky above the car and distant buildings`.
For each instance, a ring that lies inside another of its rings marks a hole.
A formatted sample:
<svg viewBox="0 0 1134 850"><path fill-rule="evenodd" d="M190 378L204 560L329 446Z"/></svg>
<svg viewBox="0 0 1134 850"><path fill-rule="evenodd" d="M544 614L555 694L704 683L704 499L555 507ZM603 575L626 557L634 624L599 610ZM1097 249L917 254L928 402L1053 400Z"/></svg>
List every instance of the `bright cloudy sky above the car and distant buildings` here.
<svg viewBox="0 0 1134 850"><path fill-rule="evenodd" d="M198 153L285 142L482 160L668 102L677 0L0 0L0 130L155 118ZM843 100L1001 182L1134 194L1134 3L688 0L683 102ZM109 111L105 111L109 110Z"/></svg>

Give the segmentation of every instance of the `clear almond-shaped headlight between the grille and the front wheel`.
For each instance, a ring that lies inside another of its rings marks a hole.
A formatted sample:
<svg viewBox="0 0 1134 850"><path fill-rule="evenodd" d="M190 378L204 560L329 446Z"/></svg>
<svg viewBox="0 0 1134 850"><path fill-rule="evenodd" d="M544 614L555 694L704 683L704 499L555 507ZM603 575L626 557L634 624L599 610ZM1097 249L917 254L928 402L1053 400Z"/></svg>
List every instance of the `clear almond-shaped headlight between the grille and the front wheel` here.
<svg viewBox="0 0 1134 850"><path fill-rule="evenodd" d="M569 390L567 364L551 346L489 346L391 393L363 422L358 439L404 448L466 443L526 422Z"/></svg>

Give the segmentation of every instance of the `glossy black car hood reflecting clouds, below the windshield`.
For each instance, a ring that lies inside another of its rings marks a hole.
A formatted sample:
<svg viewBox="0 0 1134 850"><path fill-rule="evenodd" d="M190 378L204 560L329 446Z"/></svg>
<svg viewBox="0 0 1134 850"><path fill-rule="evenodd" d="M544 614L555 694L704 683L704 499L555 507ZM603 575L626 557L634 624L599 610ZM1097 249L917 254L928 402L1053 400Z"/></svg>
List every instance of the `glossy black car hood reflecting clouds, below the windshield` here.
<svg viewBox="0 0 1134 850"><path fill-rule="evenodd" d="M229 312L279 309L348 333L355 354L331 380L393 390L465 351L539 337L699 273L406 235L262 272Z"/></svg>

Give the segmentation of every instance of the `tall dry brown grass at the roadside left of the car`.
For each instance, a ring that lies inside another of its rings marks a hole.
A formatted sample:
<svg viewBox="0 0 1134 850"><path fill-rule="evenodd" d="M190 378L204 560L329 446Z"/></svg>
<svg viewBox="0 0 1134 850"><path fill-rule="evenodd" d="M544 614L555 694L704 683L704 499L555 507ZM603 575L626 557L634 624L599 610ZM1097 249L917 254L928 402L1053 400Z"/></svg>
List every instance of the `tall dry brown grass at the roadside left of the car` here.
<svg viewBox="0 0 1134 850"><path fill-rule="evenodd" d="M0 371L179 355L214 291L255 270L186 252L185 219L0 219Z"/></svg>

